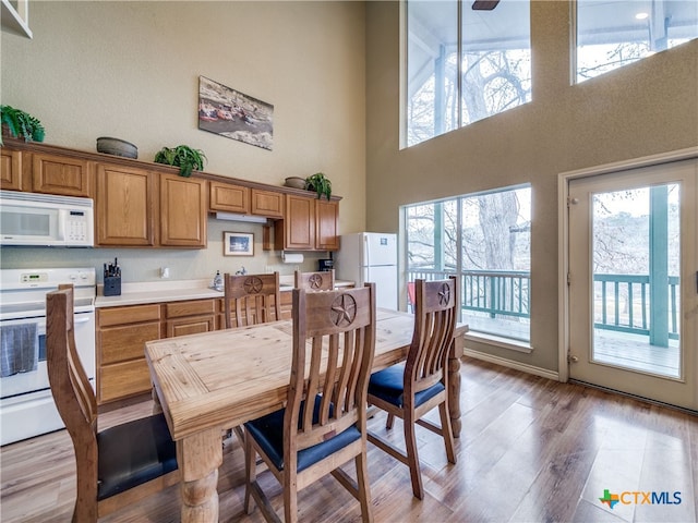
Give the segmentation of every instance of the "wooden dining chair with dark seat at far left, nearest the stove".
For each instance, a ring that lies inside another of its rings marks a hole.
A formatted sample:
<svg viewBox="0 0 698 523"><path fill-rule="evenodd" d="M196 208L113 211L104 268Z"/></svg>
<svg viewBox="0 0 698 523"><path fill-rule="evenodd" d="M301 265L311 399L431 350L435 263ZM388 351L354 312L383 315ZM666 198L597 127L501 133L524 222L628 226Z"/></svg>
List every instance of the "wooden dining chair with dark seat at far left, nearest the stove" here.
<svg viewBox="0 0 698 523"><path fill-rule="evenodd" d="M177 449L163 414L97 431L97 402L73 331L73 288L46 295L51 393L73 441L77 489L73 523L132 504L179 482Z"/></svg>

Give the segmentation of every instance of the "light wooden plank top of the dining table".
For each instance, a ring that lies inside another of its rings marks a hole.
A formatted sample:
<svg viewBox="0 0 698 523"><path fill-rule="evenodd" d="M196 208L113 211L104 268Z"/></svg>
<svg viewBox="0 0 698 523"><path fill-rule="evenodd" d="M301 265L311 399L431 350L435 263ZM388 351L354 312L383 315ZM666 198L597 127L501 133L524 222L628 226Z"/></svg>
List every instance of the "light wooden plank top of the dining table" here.
<svg viewBox="0 0 698 523"><path fill-rule="evenodd" d="M407 357L414 318L376 311L374 369ZM274 412L286 400L291 320L148 341L145 356L172 435L230 428ZM467 330L458 326L457 335Z"/></svg>

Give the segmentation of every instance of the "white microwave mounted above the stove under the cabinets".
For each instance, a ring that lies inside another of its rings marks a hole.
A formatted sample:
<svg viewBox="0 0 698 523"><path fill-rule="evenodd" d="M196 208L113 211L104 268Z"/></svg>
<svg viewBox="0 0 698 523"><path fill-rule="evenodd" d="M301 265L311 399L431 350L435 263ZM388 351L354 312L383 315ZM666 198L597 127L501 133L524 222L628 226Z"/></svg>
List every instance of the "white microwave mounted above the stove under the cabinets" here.
<svg viewBox="0 0 698 523"><path fill-rule="evenodd" d="M0 191L0 245L93 247L91 198Z"/></svg>

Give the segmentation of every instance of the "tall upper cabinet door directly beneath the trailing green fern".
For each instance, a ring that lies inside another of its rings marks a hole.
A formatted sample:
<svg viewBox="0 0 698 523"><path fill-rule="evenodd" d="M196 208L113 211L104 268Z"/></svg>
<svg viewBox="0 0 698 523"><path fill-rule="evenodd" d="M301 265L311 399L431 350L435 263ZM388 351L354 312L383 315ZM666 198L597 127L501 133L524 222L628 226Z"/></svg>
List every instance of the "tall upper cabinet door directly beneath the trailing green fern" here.
<svg viewBox="0 0 698 523"><path fill-rule="evenodd" d="M160 175L160 245L205 247L206 180Z"/></svg>

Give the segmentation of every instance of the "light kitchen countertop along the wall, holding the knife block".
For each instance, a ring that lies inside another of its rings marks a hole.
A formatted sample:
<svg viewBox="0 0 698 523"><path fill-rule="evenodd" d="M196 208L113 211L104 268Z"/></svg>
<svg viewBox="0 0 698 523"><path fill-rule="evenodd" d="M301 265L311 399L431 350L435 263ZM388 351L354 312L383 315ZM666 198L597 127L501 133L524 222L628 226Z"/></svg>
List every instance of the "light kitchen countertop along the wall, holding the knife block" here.
<svg viewBox="0 0 698 523"><path fill-rule="evenodd" d="M293 289L293 276L281 276L279 280L281 292ZM97 285L95 307L118 307L146 303L222 297L222 291L212 289L209 287L210 284L212 280L209 279L121 283L121 295L119 296L105 296L103 295L103 285ZM353 284L353 281L335 281L337 288L351 287Z"/></svg>

